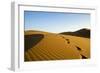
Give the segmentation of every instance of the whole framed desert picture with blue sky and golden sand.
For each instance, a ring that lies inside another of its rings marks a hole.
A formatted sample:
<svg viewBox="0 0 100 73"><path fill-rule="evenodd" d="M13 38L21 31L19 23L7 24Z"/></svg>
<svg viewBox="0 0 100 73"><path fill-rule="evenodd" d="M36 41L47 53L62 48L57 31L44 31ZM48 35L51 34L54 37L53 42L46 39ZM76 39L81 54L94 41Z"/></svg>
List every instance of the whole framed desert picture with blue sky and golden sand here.
<svg viewBox="0 0 100 73"><path fill-rule="evenodd" d="M24 61L90 58L89 13L24 11Z"/></svg>

